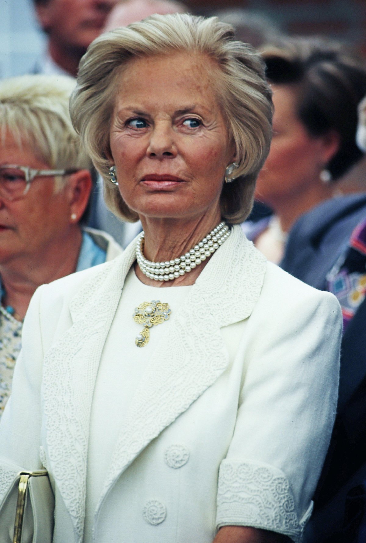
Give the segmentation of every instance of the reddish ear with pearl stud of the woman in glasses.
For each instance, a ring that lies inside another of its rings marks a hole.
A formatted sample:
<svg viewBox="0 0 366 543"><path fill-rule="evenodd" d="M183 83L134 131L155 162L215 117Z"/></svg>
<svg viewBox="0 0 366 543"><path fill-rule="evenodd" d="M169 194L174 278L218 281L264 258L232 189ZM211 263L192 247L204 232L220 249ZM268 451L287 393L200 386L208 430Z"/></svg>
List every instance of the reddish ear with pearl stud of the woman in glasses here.
<svg viewBox="0 0 366 543"><path fill-rule="evenodd" d="M92 175L87 169L70 174L66 195L70 205L70 222L78 223L84 213L92 191Z"/></svg>

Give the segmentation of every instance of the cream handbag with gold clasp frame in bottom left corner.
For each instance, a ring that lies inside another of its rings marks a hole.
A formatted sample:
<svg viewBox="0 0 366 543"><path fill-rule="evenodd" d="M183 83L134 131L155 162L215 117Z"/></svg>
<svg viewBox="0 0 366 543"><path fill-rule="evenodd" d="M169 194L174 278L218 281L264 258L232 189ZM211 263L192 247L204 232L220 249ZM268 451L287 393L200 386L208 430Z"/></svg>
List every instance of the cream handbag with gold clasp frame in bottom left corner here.
<svg viewBox="0 0 366 543"><path fill-rule="evenodd" d="M54 509L47 471L21 471L0 504L1 543L52 543Z"/></svg>

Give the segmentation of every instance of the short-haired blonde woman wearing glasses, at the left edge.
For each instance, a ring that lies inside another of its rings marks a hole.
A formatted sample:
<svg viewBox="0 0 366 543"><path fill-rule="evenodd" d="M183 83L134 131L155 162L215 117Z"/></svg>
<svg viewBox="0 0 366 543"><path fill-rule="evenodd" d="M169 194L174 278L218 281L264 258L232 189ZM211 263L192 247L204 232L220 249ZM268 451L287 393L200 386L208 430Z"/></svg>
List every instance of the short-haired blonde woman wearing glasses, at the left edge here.
<svg viewBox="0 0 366 543"><path fill-rule="evenodd" d="M41 75L0 83L0 416L36 288L120 252L80 227L92 180L68 112L74 86Z"/></svg>

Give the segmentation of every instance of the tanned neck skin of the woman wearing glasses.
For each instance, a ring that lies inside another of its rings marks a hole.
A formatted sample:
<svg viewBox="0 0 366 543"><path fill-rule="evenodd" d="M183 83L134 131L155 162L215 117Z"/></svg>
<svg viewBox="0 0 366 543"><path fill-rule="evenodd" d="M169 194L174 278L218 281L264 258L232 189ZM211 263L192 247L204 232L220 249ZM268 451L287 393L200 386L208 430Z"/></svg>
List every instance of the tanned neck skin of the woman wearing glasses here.
<svg viewBox="0 0 366 543"><path fill-rule="evenodd" d="M78 263L82 233L73 225L68 235L50 243L31 256L17 256L0 264L0 275L5 291L3 306L14 307L22 320L36 289L60 277L73 273Z"/></svg>

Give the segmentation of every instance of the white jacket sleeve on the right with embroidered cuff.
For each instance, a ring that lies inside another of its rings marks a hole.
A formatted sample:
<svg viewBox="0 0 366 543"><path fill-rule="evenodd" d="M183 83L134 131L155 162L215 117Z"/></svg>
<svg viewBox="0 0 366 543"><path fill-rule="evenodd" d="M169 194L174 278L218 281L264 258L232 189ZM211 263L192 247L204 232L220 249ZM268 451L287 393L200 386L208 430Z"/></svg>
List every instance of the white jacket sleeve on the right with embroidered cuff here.
<svg viewBox="0 0 366 543"><path fill-rule="evenodd" d="M252 526L299 542L311 515L336 413L342 317L334 296L305 288L268 312L247 347L217 528Z"/></svg>

